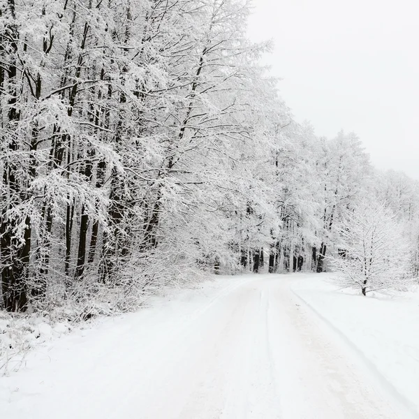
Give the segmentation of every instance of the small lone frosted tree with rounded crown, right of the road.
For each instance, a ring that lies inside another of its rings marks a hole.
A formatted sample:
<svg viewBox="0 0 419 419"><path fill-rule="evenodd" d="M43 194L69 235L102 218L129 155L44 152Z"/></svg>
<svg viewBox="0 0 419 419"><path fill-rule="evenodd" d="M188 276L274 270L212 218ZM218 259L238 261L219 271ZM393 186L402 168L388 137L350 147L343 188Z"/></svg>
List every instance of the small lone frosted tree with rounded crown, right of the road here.
<svg viewBox="0 0 419 419"><path fill-rule="evenodd" d="M394 214L380 203L360 203L337 227L339 247L330 261L337 281L363 295L409 283L409 251Z"/></svg>

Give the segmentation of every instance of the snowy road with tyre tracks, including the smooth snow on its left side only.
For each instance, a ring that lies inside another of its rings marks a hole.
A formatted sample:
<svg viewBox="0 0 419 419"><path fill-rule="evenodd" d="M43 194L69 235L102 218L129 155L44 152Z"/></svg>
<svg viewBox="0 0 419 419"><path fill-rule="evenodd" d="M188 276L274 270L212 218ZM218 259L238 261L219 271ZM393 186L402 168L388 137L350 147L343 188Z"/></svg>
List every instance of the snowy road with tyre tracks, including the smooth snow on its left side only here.
<svg viewBox="0 0 419 419"><path fill-rule="evenodd" d="M1 378L0 418L413 417L325 330L292 281L219 281L58 339Z"/></svg>

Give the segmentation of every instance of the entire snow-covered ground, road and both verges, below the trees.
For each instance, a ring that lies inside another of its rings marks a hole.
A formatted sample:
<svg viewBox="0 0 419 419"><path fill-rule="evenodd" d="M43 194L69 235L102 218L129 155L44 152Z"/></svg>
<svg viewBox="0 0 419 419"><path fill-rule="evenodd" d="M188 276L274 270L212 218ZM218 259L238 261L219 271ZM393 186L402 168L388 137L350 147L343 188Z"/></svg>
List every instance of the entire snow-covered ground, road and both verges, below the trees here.
<svg viewBox="0 0 419 419"><path fill-rule="evenodd" d="M417 418L418 303L219 277L39 346L0 378L0 418Z"/></svg>

